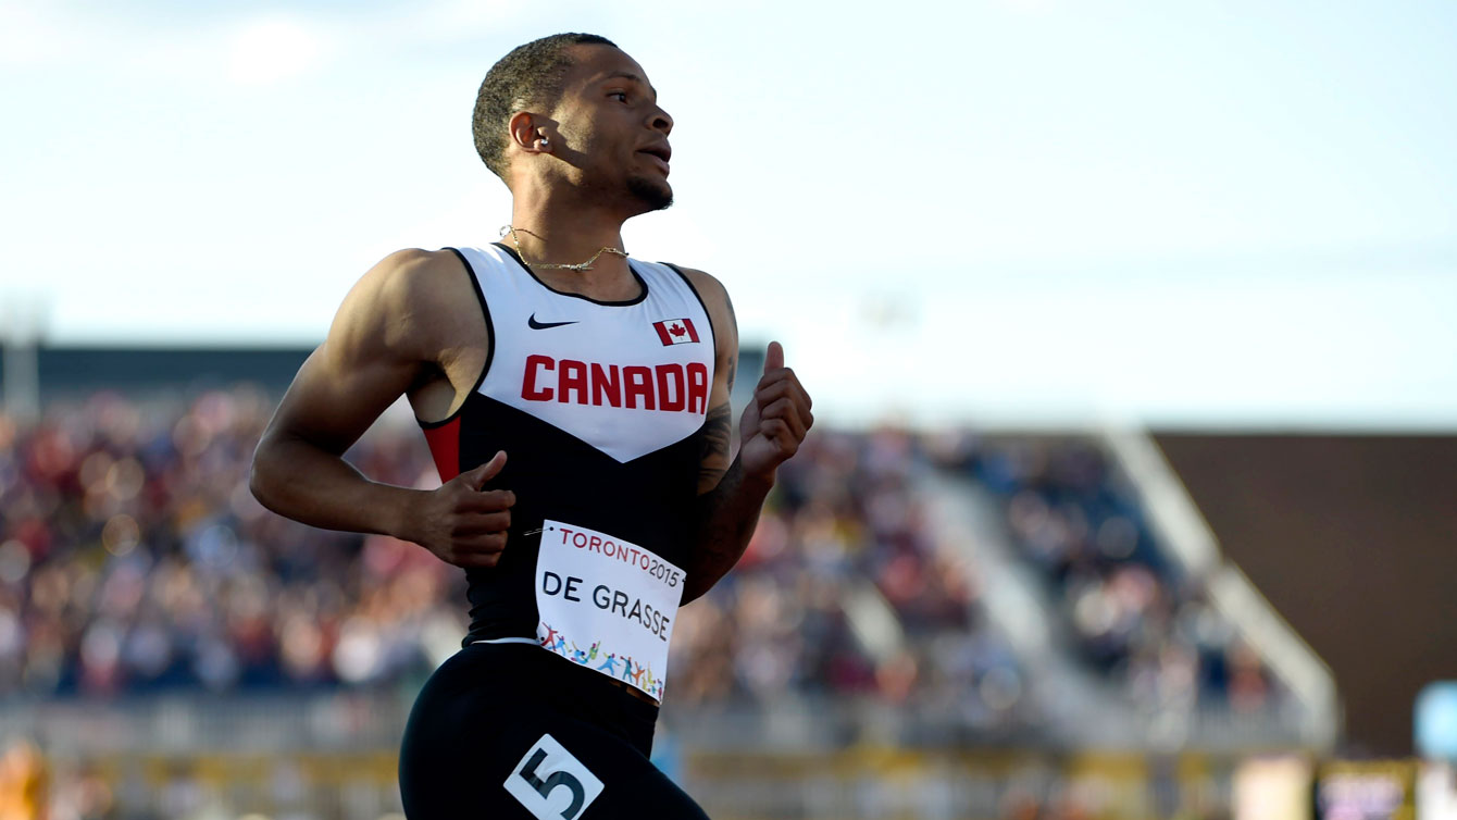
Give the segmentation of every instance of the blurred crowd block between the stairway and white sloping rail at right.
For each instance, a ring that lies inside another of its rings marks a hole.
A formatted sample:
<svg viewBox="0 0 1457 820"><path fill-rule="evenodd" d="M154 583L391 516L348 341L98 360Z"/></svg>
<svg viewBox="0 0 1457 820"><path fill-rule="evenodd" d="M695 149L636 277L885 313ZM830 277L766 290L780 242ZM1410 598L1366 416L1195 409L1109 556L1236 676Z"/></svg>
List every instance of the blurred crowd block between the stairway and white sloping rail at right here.
<svg viewBox="0 0 1457 820"><path fill-rule="evenodd" d="M1094 440L966 435L944 462L998 498L1081 655L1134 702L1254 711L1271 701L1269 669L1158 546Z"/></svg>

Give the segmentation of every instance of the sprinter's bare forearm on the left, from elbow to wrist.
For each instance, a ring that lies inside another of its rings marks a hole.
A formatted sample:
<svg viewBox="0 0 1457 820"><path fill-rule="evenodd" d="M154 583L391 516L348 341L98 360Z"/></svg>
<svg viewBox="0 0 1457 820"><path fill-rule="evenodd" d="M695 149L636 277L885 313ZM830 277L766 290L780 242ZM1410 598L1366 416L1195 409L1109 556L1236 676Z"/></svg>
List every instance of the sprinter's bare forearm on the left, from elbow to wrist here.
<svg viewBox="0 0 1457 820"><path fill-rule="evenodd" d="M288 437L258 446L249 488L264 507L309 526L404 539L407 513L425 494L370 481L339 456Z"/></svg>

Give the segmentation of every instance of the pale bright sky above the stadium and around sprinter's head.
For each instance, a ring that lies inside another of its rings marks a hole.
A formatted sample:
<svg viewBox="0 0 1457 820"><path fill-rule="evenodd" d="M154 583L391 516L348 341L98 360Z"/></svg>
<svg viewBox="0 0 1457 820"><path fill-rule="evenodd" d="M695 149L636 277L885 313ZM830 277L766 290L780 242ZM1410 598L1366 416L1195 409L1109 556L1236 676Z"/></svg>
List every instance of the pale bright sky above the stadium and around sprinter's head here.
<svg viewBox="0 0 1457 820"><path fill-rule="evenodd" d="M318 344L497 239L475 90L559 31L676 121L628 251L820 418L1457 430L1445 0L0 0L0 331Z"/></svg>

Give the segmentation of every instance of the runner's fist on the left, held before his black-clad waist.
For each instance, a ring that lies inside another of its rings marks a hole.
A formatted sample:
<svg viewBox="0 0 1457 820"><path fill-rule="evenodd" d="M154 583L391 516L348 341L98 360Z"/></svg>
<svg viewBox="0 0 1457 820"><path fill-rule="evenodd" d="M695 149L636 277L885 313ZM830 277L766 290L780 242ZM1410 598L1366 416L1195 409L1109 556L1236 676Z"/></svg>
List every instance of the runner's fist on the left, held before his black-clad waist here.
<svg viewBox="0 0 1457 820"><path fill-rule="evenodd" d="M511 526L510 489L481 491L506 466L506 452L490 462L463 472L430 491L414 507L409 540L456 567L495 567L506 549L506 530Z"/></svg>

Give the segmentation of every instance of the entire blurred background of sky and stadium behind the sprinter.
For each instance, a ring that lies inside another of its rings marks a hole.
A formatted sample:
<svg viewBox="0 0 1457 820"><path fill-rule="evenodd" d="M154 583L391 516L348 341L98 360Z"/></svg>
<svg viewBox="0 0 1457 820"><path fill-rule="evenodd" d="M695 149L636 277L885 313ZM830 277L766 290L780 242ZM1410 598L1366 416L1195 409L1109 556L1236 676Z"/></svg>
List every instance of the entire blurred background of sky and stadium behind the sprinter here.
<svg viewBox="0 0 1457 820"><path fill-rule="evenodd" d="M720 819L1457 817L1457 6L0 0L0 820L398 820L463 572L252 498L358 275L615 39L628 249L816 427L680 613ZM439 485L408 405L347 456Z"/></svg>

